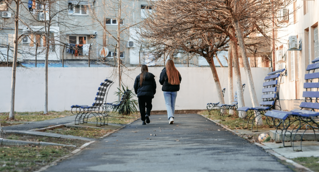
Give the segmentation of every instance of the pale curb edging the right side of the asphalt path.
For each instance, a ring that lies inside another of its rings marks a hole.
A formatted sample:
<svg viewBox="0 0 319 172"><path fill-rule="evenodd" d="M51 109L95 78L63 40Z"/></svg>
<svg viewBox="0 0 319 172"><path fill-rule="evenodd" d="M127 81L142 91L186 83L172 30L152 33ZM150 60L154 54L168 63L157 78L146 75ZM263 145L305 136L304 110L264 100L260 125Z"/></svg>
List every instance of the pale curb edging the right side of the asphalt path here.
<svg viewBox="0 0 319 172"><path fill-rule="evenodd" d="M206 118L206 119L209 119L210 121L216 123L217 125L219 125L219 126L225 128L225 129L228 130L228 131L231 131L231 132L233 132L233 133L235 133L235 134L237 134L237 135L240 134L240 133L235 132L234 130L231 130L230 128L226 127L225 125L216 122L215 120L212 120L212 119L210 119L210 118L207 118L207 117L204 116L204 115L201 115L201 116L203 116L203 117ZM314 172L314 171L310 170L309 168L307 168L307 167L305 167L305 166L302 166L302 165L300 165L300 164L298 164L298 163L296 163L296 162L294 162L294 161L292 161L292 160L290 160L290 159L287 159L286 157L280 155L279 153L276 153L275 151L273 151L273 150L272 150L270 147L268 147L268 146L262 145L262 144L260 144L260 143L254 143L254 144L255 144L256 146L259 146L259 147L263 148L267 153L270 153L271 155L277 157L277 158L280 159L281 161L285 161L285 162L287 162L287 163L290 163L290 164L292 164L292 165L293 165L294 167L296 167L296 168L303 169L305 172Z"/></svg>

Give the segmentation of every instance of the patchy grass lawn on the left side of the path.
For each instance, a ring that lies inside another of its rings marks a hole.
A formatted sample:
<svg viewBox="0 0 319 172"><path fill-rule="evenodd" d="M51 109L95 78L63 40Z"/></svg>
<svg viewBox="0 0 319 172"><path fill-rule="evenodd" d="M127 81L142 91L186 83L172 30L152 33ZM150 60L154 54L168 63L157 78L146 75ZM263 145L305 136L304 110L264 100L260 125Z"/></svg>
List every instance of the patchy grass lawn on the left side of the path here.
<svg viewBox="0 0 319 172"><path fill-rule="evenodd" d="M43 121L48 119L54 119L58 117L71 116L70 111L63 112L49 112L43 115L43 112L19 112L15 113L15 119L9 120L9 113L0 113L0 122L2 126L16 125L30 121ZM111 113L108 116L109 123L127 124L135 121L139 116L133 114L130 116L124 116L117 113ZM89 119L96 122L96 119ZM94 121L95 120L95 121ZM55 132L64 135L74 135L89 138L100 138L105 134L112 132L111 129L91 128L91 127L72 127L72 128L60 128L49 132ZM36 142L51 142L59 143L71 146L0 146L0 171L4 172L16 172L26 171L31 172L40 169L43 166L48 165L52 161L63 157L78 147L85 144L87 141L52 138L43 136L31 136L21 134L6 134L5 138L14 140L26 140Z"/></svg>

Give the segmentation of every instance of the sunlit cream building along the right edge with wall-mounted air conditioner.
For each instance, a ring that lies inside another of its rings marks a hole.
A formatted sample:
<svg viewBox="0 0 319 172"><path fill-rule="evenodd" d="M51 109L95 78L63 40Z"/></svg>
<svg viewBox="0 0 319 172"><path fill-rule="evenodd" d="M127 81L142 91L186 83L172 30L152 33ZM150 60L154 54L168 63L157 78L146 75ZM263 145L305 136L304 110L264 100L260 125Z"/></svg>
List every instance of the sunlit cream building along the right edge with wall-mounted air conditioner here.
<svg viewBox="0 0 319 172"><path fill-rule="evenodd" d="M306 67L319 57L318 7L316 0L295 0L283 7L278 20L286 26L276 29L275 68L286 68L280 84L283 109L299 108L304 91Z"/></svg>

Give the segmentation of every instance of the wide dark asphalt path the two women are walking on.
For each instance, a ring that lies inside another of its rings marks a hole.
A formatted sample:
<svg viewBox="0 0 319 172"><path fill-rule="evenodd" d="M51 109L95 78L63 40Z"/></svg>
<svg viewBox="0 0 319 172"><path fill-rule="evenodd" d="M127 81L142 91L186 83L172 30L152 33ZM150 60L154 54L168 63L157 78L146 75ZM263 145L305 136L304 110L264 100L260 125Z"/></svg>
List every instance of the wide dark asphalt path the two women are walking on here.
<svg viewBox="0 0 319 172"><path fill-rule="evenodd" d="M45 171L292 171L262 148L197 114L137 120Z"/></svg>

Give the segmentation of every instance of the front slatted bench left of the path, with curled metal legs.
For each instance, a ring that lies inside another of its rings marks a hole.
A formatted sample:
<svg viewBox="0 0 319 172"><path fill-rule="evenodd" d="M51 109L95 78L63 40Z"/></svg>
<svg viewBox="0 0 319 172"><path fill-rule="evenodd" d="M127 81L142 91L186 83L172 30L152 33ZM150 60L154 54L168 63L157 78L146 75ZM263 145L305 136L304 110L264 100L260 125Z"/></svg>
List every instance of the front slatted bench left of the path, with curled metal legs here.
<svg viewBox="0 0 319 172"><path fill-rule="evenodd" d="M87 120L90 116L94 116L96 118L96 126L98 126L99 122L100 126L105 125L105 120L107 120L106 124L108 124L108 114L107 111L105 111L105 109L103 108L103 104L106 102L108 90L113 83L113 81L105 79L104 82L100 84L100 87L98 88L98 92L96 93L96 97L94 99L95 102L92 104L92 106L71 106L72 114L76 115L74 121L75 124L87 123Z"/></svg>

